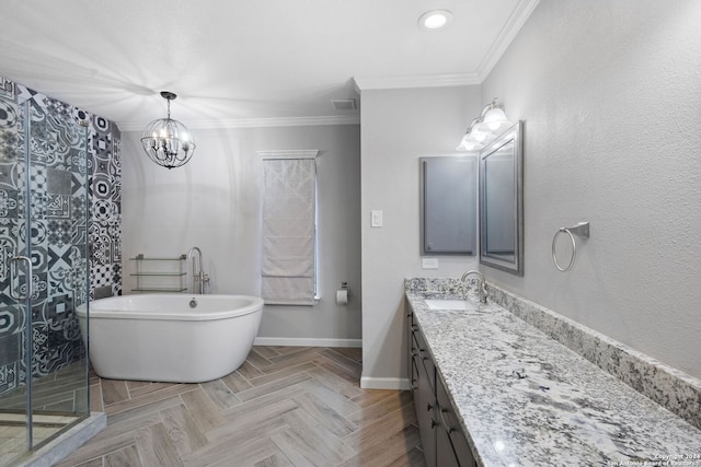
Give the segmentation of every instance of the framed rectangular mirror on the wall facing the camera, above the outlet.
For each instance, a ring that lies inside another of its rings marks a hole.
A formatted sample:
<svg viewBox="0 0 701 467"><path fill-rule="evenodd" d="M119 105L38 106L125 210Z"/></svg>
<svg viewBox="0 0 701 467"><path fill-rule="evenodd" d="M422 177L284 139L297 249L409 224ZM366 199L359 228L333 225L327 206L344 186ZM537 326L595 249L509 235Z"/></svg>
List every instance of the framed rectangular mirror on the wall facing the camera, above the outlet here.
<svg viewBox="0 0 701 467"><path fill-rule="evenodd" d="M421 157L421 254L474 255L478 157Z"/></svg>

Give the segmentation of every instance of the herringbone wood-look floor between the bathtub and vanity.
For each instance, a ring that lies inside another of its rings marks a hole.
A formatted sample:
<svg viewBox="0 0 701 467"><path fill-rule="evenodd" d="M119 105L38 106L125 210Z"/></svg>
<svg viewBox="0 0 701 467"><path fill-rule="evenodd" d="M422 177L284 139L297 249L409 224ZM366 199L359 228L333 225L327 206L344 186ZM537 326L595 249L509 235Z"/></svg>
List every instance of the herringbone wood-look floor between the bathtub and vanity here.
<svg viewBox="0 0 701 467"><path fill-rule="evenodd" d="M59 466L423 466L411 392L359 380L360 349L300 347L202 384L95 376L107 428Z"/></svg>

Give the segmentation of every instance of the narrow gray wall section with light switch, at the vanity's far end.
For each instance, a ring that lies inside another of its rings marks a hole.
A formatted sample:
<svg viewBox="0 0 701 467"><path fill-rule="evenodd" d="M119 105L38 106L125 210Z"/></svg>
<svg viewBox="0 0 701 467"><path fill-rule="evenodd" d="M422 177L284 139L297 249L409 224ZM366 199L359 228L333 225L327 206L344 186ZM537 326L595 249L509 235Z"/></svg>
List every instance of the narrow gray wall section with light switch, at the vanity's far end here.
<svg viewBox="0 0 701 467"><path fill-rule="evenodd" d="M418 157L460 154L456 147L482 104L478 86L361 92L361 384L391 388L406 378L404 278L476 267L474 256L440 256L439 269L422 269ZM372 210L383 211L383 227L370 226Z"/></svg>

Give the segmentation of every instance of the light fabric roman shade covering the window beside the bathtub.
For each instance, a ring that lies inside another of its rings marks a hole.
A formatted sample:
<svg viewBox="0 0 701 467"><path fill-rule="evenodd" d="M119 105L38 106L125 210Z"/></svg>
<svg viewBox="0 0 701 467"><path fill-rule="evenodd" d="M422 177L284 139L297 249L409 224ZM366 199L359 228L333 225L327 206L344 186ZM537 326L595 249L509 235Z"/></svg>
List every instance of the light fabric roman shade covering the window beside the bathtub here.
<svg viewBox="0 0 701 467"><path fill-rule="evenodd" d="M263 177L261 296L266 304L313 305L315 161L266 159Z"/></svg>

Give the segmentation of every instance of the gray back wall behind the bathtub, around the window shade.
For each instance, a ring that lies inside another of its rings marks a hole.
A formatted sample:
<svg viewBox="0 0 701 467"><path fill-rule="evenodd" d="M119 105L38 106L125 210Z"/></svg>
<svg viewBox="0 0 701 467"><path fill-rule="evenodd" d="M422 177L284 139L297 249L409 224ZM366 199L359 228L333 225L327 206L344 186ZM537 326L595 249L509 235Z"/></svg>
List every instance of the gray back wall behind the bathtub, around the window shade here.
<svg viewBox="0 0 701 467"><path fill-rule="evenodd" d="M185 122L186 124L186 122ZM211 293L260 294L260 150L320 150L319 273L313 307L266 306L258 337L297 343L359 343L359 127L315 126L194 129L191 162L168 171L146 157L140 132L123 133L123 252L125 293L135 287L128 258L169 256L197 245ZM350 301L335 304L347 281Z"/></svg>

